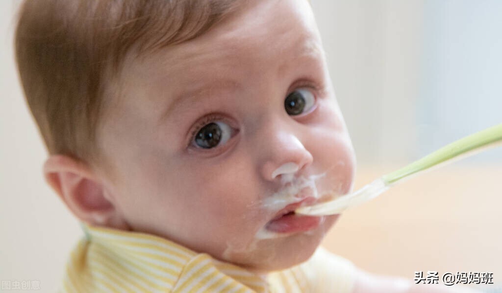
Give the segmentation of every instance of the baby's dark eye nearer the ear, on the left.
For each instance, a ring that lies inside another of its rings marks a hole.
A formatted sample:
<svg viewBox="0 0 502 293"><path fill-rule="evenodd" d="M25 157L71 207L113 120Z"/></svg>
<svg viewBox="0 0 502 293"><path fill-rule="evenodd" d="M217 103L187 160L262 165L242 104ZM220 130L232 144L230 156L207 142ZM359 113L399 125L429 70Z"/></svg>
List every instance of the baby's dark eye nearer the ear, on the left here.
<svg viewBox="0 0 502 293"><path fill-rule="evenodd" d="M194 143L201 148L210 149L224 144L230 139L232 128L221 121L211 122L202 127L194 137Z"/></svg>

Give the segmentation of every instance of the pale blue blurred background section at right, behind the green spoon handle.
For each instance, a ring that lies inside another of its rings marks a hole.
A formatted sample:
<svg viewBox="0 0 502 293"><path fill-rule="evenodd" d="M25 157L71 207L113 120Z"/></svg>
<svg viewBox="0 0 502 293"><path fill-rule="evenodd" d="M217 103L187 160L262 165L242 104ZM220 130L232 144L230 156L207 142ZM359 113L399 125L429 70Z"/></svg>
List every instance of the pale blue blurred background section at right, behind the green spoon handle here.
<svg viewBox="0 0 502 293"><path fill-rule="evenodd" d="M421 150L502 123L502 2L425 1ZM466 160L502 164L502 148Z"/></svg>

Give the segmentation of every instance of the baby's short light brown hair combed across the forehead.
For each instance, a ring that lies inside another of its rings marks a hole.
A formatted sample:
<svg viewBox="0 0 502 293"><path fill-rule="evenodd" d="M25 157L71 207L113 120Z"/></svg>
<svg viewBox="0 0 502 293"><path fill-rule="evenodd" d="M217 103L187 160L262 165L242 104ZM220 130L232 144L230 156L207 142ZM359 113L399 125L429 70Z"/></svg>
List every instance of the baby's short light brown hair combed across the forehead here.
<svg viewBox="0 0 502 293"><path fill-rule="evenodd" d="M50 154L99 156L103 92L125 56L204 34L236 0L27 0L15 46L30 110Z"/></svg>

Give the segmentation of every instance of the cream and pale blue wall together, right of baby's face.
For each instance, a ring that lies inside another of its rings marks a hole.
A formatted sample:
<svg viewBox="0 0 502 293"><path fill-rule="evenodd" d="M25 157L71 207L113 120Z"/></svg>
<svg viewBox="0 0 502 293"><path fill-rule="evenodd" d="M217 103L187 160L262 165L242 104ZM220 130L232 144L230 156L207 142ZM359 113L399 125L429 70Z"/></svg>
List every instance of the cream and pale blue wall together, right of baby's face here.
<svg viewBox="0 0 502 293"><path fill-rule="evenodd" d="M502 2L313 1L364 165L404 164L502 123ZM502 149L465 162L502 163Z"/></svg>

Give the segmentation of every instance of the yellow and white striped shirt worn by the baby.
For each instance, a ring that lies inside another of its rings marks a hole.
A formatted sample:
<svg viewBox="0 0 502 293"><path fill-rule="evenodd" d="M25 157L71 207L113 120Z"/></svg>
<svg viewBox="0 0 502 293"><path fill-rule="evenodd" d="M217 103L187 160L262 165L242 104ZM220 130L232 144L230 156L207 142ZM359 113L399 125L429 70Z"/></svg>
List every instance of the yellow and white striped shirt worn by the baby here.
<svg viewBox="0 0 502 293"><path fill-rule="evenodd" d="M61 292L350 292L355 268L318 249L307 262L261 277L164 238L83 224Z"/></svg>

